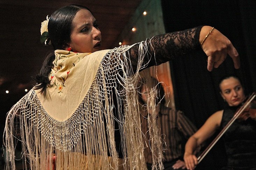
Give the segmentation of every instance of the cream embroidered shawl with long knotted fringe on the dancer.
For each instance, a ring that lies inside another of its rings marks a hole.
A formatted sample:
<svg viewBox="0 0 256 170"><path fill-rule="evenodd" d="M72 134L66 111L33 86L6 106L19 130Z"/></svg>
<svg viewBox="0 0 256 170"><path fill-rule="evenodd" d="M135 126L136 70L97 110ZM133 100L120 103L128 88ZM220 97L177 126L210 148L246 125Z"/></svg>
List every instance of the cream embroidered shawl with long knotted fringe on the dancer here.
<svg viewBox="0 0 256 170"><path fill-rule="evenodd" d="M15 169L18 140L22 143L24 169L47 169L52 155L56 155L57 170L146 169L137 84L138 70L148 64L143 62L144 57L154 56L141 42L137 69L132 70L128 53L131 47L91 54L55 51L55 67L46 95L32 89L7 114L6 169ZM150 84L149 71L144 73ZM148 103L155 103L156 90L151 87ZM154 110L155 104L148 107ZM162 169L156 115L149 117L148 147L155 155L153 168ZM121 161L114 122L118 122L121 134Z"/></svg>

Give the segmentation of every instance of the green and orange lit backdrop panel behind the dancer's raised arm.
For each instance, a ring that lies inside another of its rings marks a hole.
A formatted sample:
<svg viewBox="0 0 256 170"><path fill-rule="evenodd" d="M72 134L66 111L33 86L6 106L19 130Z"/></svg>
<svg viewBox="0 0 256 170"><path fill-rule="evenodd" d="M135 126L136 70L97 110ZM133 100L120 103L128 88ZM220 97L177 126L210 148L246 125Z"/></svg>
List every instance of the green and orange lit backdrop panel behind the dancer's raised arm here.
<svg viewBox="0 0 256 170"><path fill-rule="evenodd" d="M145 15L143 14L144 12L146 12ZM135 30L132 31L132 28ZM121 45L132 45L163 33L165 33L165 28L161 0L143 0L117 41L113 44L121 42ZM158 73L156 78L159 82L162 82L163 88L168 94L165 95L166 106L175 109L169 62L158 65L154 69L157 69Z"/></svg>

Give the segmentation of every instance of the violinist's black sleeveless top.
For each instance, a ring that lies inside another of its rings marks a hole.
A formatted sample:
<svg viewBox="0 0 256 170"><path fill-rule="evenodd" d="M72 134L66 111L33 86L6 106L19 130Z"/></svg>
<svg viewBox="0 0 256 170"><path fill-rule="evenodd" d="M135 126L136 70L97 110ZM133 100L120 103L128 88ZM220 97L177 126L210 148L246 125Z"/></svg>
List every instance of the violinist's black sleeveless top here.
<svg viewBox="0 0 256 170"><path fill-rule="evenodd" d="M221 128L234 116L237 107L224 110ZM233 170L256 170L256 120L236 120L224 133L227 168Z"/></svg>

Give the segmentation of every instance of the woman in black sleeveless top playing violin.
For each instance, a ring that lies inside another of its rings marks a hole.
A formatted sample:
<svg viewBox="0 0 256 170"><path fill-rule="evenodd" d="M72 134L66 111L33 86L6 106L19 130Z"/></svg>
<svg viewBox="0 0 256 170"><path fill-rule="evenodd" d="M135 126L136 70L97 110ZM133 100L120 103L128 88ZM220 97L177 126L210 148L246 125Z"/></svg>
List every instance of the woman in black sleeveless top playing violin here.
<svg viewBox="0 0 256 170"><path fill-rule="evenodd" d="M223 77L219 83L220 94L228 107L211 115L202 127L189 138L185 146L184 161L187 169L194 169L198 164L195 149L210 138L217 129L232 119L236 110L246 99L244 88L238 77ZM255 105L255 103L253 103ZM256 169L256 119L255 109L247 109L242 117L223 134L227 154L227 165L222 170Z"/></svg>

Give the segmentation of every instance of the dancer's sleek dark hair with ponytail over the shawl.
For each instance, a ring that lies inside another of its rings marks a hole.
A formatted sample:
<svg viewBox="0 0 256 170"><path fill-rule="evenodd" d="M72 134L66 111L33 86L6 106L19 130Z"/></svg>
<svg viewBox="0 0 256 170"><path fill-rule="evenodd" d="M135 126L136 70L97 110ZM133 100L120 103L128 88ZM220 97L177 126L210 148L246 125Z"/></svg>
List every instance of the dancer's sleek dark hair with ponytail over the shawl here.
<svg viewBox="0 0 256 170"><path fill-rule="evenodd" d="M70 42L70 36L73 31L73 19L80 9L90 9L81 5L69 5L56 10L49 18L48 33L51 44L56 49L64 49L63 45ZM92 12L91 12L92 13ZM36 90L40 90L44 94L50 83L49 74L54 67L52 62L55 59L54 53L49 53L42 65L40 73L34 77L34 86Z"/></svg>

